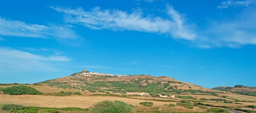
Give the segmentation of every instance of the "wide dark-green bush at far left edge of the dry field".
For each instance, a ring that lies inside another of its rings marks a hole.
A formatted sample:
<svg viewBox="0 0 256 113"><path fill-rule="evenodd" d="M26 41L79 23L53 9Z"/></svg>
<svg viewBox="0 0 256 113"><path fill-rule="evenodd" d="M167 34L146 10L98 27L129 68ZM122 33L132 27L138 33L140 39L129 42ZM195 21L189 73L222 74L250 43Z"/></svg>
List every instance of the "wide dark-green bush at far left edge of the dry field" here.
<svg viewBox="0 0 256 113"><path fill-rule="evenodd" d="M36 90L35 88L25 86L25 85L7 87L3 89L3 93L9 94L9 95L23 95L23 94L41 95L43 94L42 92Z"/></svg>

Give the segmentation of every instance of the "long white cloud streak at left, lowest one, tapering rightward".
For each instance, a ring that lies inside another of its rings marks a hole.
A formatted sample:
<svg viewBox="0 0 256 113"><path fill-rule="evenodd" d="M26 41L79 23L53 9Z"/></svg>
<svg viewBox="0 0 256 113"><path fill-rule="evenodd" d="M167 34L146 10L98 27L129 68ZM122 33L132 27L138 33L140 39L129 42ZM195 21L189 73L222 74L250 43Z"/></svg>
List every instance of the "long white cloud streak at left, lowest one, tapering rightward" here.
<svg viewBox="0 0 256 113"><path fill-rule="evenodd" d="M33 60L48 60L48 61L69 61L69 60L71 60L70 58L67 58L66 56L52 55L49 57L44 57L41 55L30 54L30 53L12 49L12 48L0 48L0 56L14 58L14 59L33 59Z"/></svg>

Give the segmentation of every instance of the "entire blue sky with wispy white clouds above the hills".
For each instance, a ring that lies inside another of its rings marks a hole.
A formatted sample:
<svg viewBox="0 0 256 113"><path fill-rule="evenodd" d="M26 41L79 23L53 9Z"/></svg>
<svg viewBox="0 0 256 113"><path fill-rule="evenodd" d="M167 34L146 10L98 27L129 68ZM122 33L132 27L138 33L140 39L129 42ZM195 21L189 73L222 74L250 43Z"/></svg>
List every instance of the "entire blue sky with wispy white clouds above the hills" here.
<svg viewBox="0 0 256 113"><path fill-rule="evenodd" d="M0 83L83 69L256 86L256 0L4 0Z"/></svg>

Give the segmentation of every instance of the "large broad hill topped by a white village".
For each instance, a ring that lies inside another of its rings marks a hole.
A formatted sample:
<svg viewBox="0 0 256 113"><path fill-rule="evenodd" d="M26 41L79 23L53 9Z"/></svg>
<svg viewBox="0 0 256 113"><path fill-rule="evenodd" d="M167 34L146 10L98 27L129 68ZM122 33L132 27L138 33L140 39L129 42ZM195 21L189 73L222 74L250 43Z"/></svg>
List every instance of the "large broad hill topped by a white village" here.
<svg viewBox="0 0 256 113"><path fill-rule="evenodd" d="M180 82L166 76L150 75L113 75L95 73L87 70L73 73L70 76L51 79L35 85L48 85L55 88L69 88L77 90L105 90L113 93L148 92L148 93L176 93L176 94L213 94L220 92L203 88L188 82Z"/></svg>

